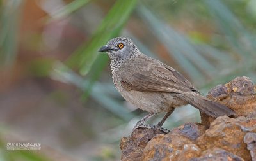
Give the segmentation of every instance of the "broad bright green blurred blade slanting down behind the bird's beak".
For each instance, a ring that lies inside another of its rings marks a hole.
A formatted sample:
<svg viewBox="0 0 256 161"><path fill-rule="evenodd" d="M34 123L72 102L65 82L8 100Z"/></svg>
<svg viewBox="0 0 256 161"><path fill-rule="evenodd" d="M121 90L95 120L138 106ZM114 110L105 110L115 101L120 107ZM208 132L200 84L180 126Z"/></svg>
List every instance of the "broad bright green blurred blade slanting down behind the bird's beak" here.
<svg viewBox="0 0 256 161"><path fill-rule="evenodd" d="M108 12L98 29L88 42L84 43L67 60L68 66L78 67L80 73L88 74L99 53L97 50L106 45L109 39L118 36L137 0L118 0ZM122 13L122 14L120 14Z"/></svg>

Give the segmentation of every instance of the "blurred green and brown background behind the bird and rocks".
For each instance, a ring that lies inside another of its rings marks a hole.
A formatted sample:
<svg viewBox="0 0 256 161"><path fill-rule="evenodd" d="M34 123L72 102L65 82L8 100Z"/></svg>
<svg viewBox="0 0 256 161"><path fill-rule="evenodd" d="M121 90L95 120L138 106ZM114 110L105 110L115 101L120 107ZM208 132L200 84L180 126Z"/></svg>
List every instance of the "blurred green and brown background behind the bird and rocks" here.
<svg viewBox="0 0 256 161"><path fill-rule="evenodd" d="M120 139L147 113L115 90L100 46L131 38L206 95L255 82L255 19L256 0L1 0L0 160L120 160ZM184 122L198 110L178 108L164 127ZM6 150L20 141L42 149Z"/></svg>

